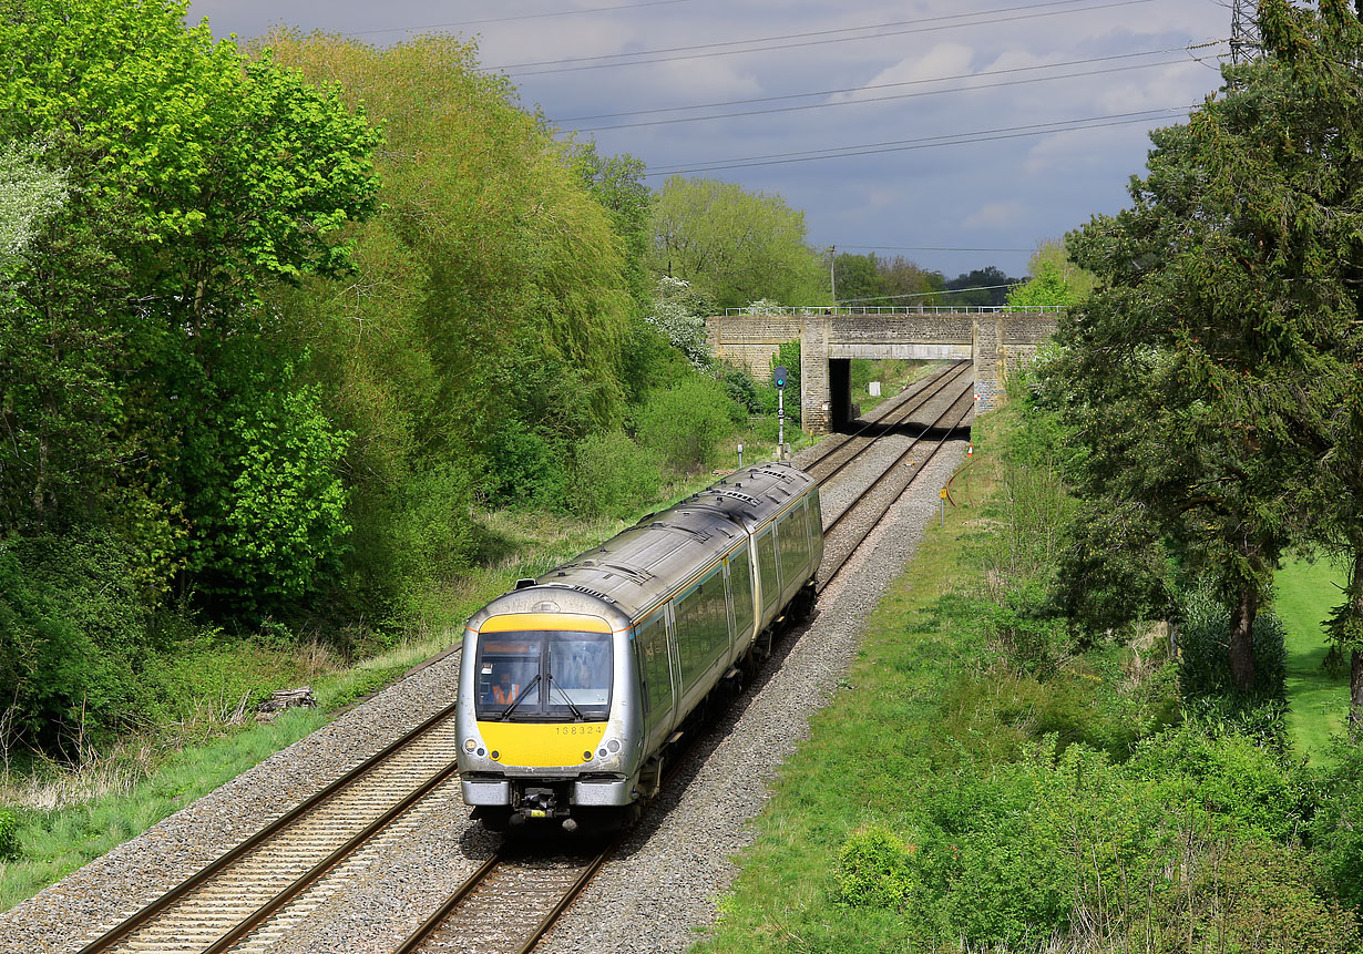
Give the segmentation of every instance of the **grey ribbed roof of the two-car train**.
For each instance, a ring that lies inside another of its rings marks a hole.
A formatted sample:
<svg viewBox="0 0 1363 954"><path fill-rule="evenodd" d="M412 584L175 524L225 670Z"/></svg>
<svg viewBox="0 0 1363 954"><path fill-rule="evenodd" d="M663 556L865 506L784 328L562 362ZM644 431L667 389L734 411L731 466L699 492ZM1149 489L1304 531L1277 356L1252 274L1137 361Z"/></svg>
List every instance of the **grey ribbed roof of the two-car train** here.
<svg viewBox="0 0 1363 954"><path fill-rule="evenodd" d="M474 616L470 626L495 613L522 612L522 604L530 608L544 600L553 601L559 594L596 597L637 619L662 593L732 549L814 482L789 463L737 470L533 582L522 581L512 593Z"/></svg>

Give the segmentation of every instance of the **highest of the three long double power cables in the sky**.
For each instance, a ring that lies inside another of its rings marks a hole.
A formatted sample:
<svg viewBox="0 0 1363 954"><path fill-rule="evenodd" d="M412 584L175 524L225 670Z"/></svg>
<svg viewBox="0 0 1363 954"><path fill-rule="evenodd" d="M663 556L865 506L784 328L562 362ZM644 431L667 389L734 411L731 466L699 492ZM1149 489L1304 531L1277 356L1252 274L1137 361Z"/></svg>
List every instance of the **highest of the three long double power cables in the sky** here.
<svg viewBox="0 0 1363 954"><path fill-rule="evenodd" d="M969 22L964 22L964 23L938 23L936 26L915 26L915 27L905 29L905 30L889 30L886 33L872 33L872 34L867 34L867 35L863 35L863 37L834 37L831 34L834 34L834 33L849 33L849 31L855 31L855 30L875 30L875 29L879 29L879 27L876 27L876 26L844 27L844 29L840 29L840 30L819 30L819 31L812 33L812 34L789 34L789 37L763 37L763 38L755 38L755 40L735 40L735 41L728 41L728 42L722 42L722 44L705 44L705 45L699 45L699 46L677 46L677 48L672 48L672 49L639 50L639 52L634 52L634 53L608 53L608 55L600 56L600 57L578 57L578 59L567 59L567 60L545 60L542 63L512 63L512 64L500 65L500 67L489 67L489 70L492 70L492 71L503 71L503 70L506 70L506 71L515 71L515 70L522 70L525 67L538 67L538 65L553 67L551 70L533 70L530 72L508 72L507 74L508 76L519 78L519 76L544 76L544 75L556 74L556 72L577 72L577 71L581 71L581 70L605 70L605 68L613 68L613 67L638 67L638 65L649 65L649 64L654 64L654 63L671 63L671 61L675 61L675 60L702 60L702 59L711 59L711 57L717 57L717 56L737 56L737 55L741 55L741 53L763 53L763 52L778 50L778 49L795 49L795 48L799 48L799 46L822 46L822 45L827 45L827 44L842 44L842 42L852 42L852 41L857 41L857 40L880 40L880 38L885 38L885 37L902 37L902 35L917 34L917 33L936 33L936 31L940 31L940 30L955 30L955 29L960 29L960 27L964 27L964 26L991 26L991 25L995 25L995 23L1013 23L1013 22L1018 22L1018 20L1039 19L1039 18L1043 18L1043 16L1059 16L1059 15L1065 15L1065 14L1082 14L1082 12L1094 11L1094 10L1111 10L1112 7L1133 7L1133 5L1137 5L1137 4L1145 4L1145 3L1152 3L1152 1L1153 0L1111 0L1109 3L1100 3L1100 4L1088 5L1088 7L1073 7L1073 8L1066 8L1066 10L1047 10L1047 11L1035 12L1035 14L1020 14L1017 16L991 16L995 12L1007 12L1009 10L1037 10L1040 7L1054 7L1054 5L1059 5L1059 4L1090 3L1090 0L1054 0L1052 3L1029 4L1026 7L1009 7L1009 8L1005 8L1002 11L983 11L983 12L979 12L979 14L953 14L950 16L931 18L930 20L904 20L904 23L930 23L930 22L936 23L936 22L945 20L945 19L965 19L965 18L972 18L972 16L975 18L975 19L970 19ZM981 18L985 18L985 16L990 16L990 19L981 19ZM890 25L886 25L886 26L890 26ZM786 38L793 38L793 37L801 37L801 35L816 35L819 38L818 40L801 40L799 42L791 42L791 44L770 42L770 41L780 41L780 40L786 40ZM767 45L756 46L756 45L752 45L752 44L767 44ZM744 49L718 49L720 46L737 46L737 45L744 45L746 48ZM710 52L706 53L706 52L686 52L686 50L710 50ZM679 56L657 56L658 53L672 53L672 52L679 52L680 55ZM631 59L631 60L623 61L623 63L619 61L619 60L623 60L624 57L652 57L652 59ZM615 61L611 61L611 63L598 63L598 61L587 61L587 60L615 60ZM578 65L559 65L559 64L578 64Z"/></svg>

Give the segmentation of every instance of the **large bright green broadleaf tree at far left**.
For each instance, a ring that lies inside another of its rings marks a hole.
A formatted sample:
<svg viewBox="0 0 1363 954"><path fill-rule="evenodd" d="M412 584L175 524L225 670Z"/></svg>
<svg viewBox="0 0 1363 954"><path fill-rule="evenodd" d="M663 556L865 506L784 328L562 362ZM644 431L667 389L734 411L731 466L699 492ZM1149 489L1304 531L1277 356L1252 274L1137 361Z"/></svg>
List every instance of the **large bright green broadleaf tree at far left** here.
<svg viewBox="0 0 1363 954"><path fill-rule="evenodd" d="M247 61L172 0L0 4L0 139L42 142L67 200L0 315L10 533L101 521L164 587L222 488L185 448L274 386L260 293L348 268L378 136L335 95ZM241 360L262 364L244 369ZM245 390L243 390L245 388ZM225 462L233 478L245 461ZM339 541L333 541L339 545ZM189 581L184 581L189 582Z"/></svg>

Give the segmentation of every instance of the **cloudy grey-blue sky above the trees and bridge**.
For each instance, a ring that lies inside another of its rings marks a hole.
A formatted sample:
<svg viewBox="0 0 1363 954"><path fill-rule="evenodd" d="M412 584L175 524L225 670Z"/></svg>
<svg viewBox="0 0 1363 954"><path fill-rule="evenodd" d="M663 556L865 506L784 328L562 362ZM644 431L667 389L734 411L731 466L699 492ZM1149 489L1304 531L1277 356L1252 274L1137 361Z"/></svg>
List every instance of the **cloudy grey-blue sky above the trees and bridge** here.
<svg viewBox="0 0 1363 954"><path fill-rule="evenodd" d="M563 136L660 188L780 195L822 249L947 278L1130 204L1149 129L1220 84L1232 0L192 0L222 37L271 26L474 41Z"/></svg>

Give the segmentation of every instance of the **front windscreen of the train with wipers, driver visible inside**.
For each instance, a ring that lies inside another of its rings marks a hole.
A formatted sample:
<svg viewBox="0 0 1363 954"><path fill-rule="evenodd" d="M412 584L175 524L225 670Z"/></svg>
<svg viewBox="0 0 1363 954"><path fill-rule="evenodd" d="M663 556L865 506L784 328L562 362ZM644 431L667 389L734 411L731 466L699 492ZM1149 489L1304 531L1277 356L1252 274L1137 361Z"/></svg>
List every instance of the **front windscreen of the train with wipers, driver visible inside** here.
<svg viewBox="0 0 1363 954"><path fill-rule="evenodd" d="M611 635L559 630L478 639L480 720L574 722L611 714Z"/></svg>

